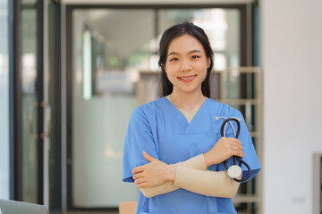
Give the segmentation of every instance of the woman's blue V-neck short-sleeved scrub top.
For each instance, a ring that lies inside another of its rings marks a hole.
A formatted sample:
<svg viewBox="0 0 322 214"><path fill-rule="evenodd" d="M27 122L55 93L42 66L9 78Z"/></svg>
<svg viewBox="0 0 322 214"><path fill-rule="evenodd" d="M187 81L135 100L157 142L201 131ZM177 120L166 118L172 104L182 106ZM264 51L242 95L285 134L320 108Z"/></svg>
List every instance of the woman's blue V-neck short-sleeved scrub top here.
<svg viewBox="0 0 322 214"><path fill-rule="evenodd" d="M216 117L242 119L238 139L242 142L245 154L243 161L250 165L249 179L255 177L260 170L260 165L249 130L240 111L208 98L189 124L182 112L162 97L154 102L141 105L132 112L123 150L123 181L134 182L131 170L148 163L143 157L143 151L167 164L186 161L208 152L221 137L220 128L225 120L216 120ZM232 123L234 126L235 122ZM237 130L237 125L234 128ZM226 136L233 137L233 129L230 125L226 128ZM233 162L232 158L228 160L229 162ZM226 170L224 163L210 166L208 169ZM247 168L243 166L242 170L243 177L245 177L248 172ZM210 197L178 189L152 198L146 198L140 192L136 214L143 213L227 214L236 213L236 210L229 198Z"/></svg>

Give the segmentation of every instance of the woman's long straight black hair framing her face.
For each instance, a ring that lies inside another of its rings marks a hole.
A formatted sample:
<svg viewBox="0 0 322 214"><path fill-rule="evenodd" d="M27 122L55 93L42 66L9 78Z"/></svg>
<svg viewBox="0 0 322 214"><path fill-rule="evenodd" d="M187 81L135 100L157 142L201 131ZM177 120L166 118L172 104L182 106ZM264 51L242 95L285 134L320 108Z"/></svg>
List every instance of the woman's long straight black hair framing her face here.
<svg viewBox="0 0 322 214"><path fill-rule="evenodd" d="M170 82L169 78L167 78L165 72L165 62L167 57L167 52L170 43L175 37L180 37L183 34L189 34L192 37L195 37L199 40L203 48L205 49L207 57L210 59L210 66L207 69L207 75L204 81L201 83L201 92L204 96L210 97L210 73L213 69L214 64L214 53L212 51L211 45L209 43L208 37L205 31L198 26L194 25L191 22L183 22L182 24L174 25L173 27L166 29L164 34L161 37L159 44L159 61L158 65L161 68L161 79L159 86L159 95L166 96L170 95L174 90L174 85Z"/></svg>

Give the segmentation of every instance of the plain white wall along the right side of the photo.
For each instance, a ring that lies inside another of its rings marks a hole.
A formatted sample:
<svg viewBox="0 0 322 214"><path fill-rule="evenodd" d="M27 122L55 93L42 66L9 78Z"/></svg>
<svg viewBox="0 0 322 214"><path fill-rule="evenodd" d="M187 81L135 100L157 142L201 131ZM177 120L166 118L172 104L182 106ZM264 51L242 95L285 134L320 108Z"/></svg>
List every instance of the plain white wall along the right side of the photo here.
<svg viewBox="0 0 322 214"><path fill-rule="evenodd" d="M265 214L312 213L312 156L322 152L321 11L321 0L260 1Z"/></svg>

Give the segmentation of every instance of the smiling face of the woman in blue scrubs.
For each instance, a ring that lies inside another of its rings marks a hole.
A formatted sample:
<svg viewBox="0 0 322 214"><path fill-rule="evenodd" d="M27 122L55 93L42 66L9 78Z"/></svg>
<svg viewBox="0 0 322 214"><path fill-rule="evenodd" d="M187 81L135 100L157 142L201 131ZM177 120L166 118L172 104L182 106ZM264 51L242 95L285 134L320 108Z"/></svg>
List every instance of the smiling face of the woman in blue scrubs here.
<svg viewBox="0 0 322 214"><path fill-rule="evenodd" d="M190 34L175 37L168 47L165 72L174 85L174 92L201 91L206 78L210 58L199 40Z"/></svg>

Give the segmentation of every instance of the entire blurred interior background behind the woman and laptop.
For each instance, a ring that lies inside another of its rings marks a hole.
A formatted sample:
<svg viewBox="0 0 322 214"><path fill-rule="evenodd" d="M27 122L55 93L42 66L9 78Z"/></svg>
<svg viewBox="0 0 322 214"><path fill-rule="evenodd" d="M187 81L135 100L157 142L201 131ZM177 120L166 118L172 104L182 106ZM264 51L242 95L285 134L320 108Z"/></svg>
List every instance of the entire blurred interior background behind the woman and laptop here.
<svg viewBox="0 0 322 214"><path fill-rule="evenodd" d="M0 198L118 213L137 106L157 99L158 42L191 21L215 55L212 98L242 111L262 170L240 214L322 213L319 0L0 0Z"/></svg>

